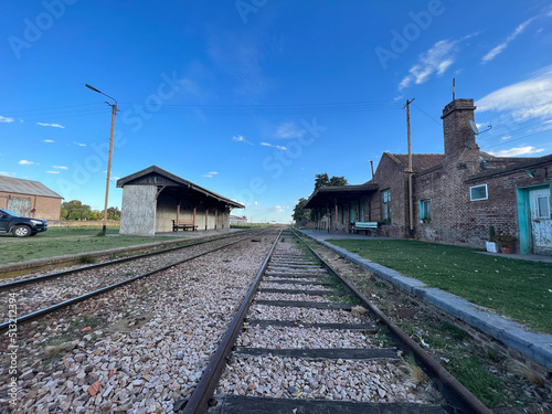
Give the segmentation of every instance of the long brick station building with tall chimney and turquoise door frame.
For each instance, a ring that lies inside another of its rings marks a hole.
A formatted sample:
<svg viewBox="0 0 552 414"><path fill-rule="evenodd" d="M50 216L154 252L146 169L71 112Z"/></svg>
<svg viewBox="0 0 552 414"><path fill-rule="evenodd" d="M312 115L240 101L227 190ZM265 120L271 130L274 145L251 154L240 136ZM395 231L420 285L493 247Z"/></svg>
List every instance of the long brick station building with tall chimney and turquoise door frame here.
<svg viewBox="0 0 552 414"><path fill-rule="evenodd" d="M335 198L328 197L329 188L320 188L306 208L316 210L317 220L326 217L332 230L378 221L382 236L473 247L485 246L492 226L513 236L519 253L552 255L552 155L499 158L481 151L470 127L475 109L473 99L449 103L442 116L445 152L412 156L412 220L407 156L389 152L372 180L333 188L341 194Z"/></svg>

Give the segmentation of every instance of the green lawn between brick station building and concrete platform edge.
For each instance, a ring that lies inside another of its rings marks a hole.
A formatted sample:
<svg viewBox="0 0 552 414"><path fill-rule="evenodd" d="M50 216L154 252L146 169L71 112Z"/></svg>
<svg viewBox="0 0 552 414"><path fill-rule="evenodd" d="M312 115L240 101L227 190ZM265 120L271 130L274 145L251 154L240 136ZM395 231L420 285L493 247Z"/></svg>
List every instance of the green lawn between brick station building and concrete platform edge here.
<svg viewBox="0 0 552 414"><path fill-rule="evenodd" d="M552 333L552 264L410 240L329 240L364 258Z"/></svg>

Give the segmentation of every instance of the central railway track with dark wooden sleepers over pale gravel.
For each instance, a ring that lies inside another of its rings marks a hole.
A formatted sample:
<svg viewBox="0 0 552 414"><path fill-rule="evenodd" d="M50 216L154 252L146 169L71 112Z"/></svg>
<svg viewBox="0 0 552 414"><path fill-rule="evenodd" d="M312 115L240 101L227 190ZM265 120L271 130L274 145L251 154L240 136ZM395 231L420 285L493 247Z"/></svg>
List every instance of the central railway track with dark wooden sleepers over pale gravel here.
<svg viewBox="0 0 552 414"><path fill-rule="evenodd" d="M284 232L275 242L197 388L176 411L490 413L294 237Z"/></svg>

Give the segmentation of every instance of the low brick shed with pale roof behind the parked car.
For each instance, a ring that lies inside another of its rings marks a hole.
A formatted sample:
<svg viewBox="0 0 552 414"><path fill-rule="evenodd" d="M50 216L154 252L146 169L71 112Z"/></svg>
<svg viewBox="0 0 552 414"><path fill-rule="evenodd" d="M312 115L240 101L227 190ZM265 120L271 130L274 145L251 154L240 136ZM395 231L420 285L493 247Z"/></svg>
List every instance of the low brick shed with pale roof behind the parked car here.
<svg viewBox="0 0 552 414"><path fill-rule="evenodd" d="M39 181L0 176L0 209L25 217L60 220L62 200Z"/></svg>

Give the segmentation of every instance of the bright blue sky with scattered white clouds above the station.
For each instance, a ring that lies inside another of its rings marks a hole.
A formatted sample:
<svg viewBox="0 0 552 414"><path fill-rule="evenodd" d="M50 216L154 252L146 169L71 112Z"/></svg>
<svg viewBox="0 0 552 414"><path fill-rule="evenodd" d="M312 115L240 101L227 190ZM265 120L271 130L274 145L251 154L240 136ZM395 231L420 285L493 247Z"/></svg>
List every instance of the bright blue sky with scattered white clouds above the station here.
<svg viewBox="0 0 552 414"><path fill-rule="evenodd" d="M481 149L552 152L550 1L4 0L0 21L0 174L93 209L110 108L85 84L118 100L114 181L157 164L255 222L406 152L406 99L413 151L442 152L453 77Z"/></svg>

